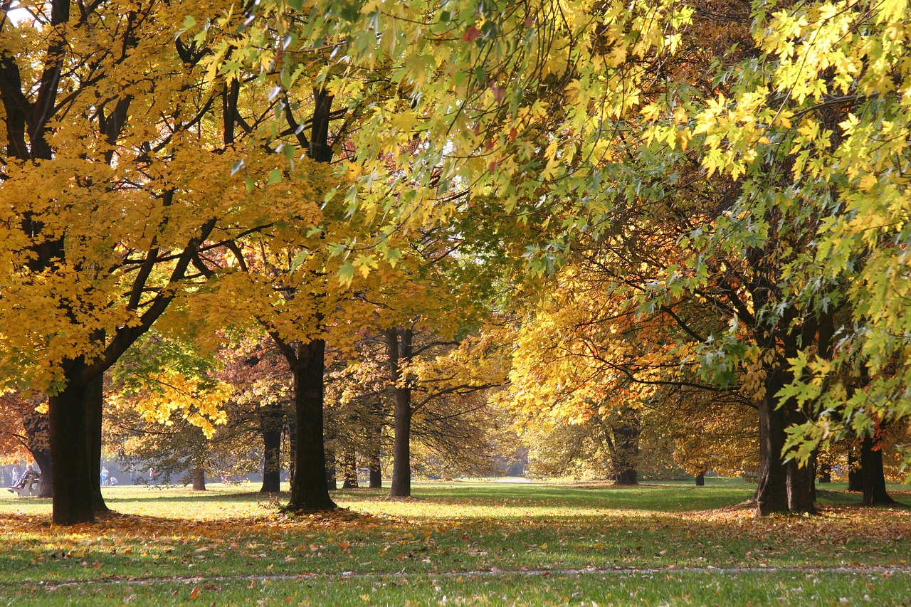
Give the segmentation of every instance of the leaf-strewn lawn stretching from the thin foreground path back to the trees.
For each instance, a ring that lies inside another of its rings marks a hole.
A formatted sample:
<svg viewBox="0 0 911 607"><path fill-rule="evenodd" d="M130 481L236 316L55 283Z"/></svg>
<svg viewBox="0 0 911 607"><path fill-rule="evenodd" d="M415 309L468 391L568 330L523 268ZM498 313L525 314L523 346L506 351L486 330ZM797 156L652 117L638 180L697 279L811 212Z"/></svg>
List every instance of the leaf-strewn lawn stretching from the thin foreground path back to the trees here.
<svg viewBox="0 0 911 607"><path fill-rule="evenodd" d="M71 528L51 525L46 514L10 513L4 515L7 540L0 550L11 558L0 560L5 561L0 571L3 583L32 584L28 567L36 564L52 583L338 573L863 568L905 566L911 551L906 509L827 506L818 517L756 519L737 501L742 488L732 493L729 506L675 511L654 504L610 508L614 496L629 495L618 489L585 489L584 498L571 494L568 499L540 489L526 497L512 488L482 488L481 495L468 488L460 499L459 489L447 489L445 499L431 495L407 501L355 494L339 499L350 510L289 515L262 507L251 495L207 496L192 504L186 494L175 494L186 515L180 518L169 514L174 509L168 492L159 492L159 499L124 500L129 513Z"/></svg>

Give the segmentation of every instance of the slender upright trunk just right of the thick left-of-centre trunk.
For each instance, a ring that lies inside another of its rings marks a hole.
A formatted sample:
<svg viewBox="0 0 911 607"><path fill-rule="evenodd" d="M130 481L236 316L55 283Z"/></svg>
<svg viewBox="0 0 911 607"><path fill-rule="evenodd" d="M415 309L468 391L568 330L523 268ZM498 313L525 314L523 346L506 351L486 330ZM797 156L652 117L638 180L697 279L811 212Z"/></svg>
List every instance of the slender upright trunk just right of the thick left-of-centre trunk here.
<svg viewBox="0 0 911 607"><path fill-rule="evenodd" d="M402 385L400 361L412 355L412 332L408 329L386 331L389 353L389 375L394 386L393 482L389 495L393 498L411 497L411 388Z"/></svg>

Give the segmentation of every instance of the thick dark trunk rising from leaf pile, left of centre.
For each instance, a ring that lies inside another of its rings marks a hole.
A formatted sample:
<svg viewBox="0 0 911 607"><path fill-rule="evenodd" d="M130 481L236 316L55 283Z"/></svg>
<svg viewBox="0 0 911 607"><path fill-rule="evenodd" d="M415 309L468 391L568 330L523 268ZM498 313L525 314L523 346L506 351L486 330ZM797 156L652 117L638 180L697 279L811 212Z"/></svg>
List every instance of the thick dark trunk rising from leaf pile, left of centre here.
<svg viewBox="0 0 911 607"><path fill-rule="evenodd" d="M326 455L322 437L325 342L314 339L300 345L292 364L297 449L288 510L331 510L335 502L326 486Z"/></svg>

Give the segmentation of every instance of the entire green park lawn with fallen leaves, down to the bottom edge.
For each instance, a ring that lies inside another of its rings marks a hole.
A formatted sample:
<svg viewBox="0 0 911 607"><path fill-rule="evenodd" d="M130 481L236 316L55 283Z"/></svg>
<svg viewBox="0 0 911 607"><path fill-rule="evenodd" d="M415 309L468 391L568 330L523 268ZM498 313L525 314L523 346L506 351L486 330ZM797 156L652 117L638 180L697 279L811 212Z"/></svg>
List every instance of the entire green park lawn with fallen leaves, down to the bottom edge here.
<svg viewBox="0 0 911 607"><path fill-rule="evenodd" d="M297 517L251 485L118 487L120 516L71 528L49 500L4 492L0 599L911 605L911 509L856 507L834 483L821 516L757 520L739 505L754 486L707 482L418 483L414 499L338 491L346 510Z"/></svg>

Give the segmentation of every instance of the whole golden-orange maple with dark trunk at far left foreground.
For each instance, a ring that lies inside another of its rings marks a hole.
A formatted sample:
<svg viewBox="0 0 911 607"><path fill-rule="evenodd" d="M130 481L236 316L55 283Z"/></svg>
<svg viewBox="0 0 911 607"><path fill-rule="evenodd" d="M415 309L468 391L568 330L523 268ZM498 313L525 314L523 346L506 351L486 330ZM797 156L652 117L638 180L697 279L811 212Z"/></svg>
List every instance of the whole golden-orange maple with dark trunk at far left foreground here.
<svg viewBox="0 0 911 607"><path fill-rule="evenodd" d="M206 7L216 44L241 23L229 6ZM52 395L62 524L103 507L87 458L100 454L103 372L192 290L200 256L277 220L306 230L319 215L292 194L308 182L301 163L296 186L266 177L292 171L260 136L268 91L207 79L210 48L184 35L182 15L155 0L71 8L54 0L31 20L0 17L0 187L16 201L3 228L0 350L7 378Z"/></svg>

